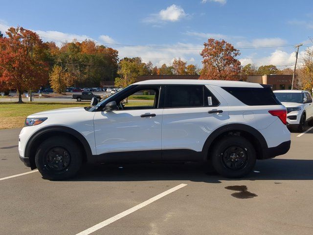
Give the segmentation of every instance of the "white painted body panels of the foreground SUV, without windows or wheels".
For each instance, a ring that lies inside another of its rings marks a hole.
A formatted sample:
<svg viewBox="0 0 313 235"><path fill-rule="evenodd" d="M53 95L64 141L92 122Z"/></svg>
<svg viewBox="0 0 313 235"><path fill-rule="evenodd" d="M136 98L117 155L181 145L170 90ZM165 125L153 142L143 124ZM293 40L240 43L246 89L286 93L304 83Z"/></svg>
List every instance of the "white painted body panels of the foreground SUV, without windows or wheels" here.
<svg viewBox="0 0 313 235"><path fill-rule="evenodd" d="M247 106L222 87L255 87L260 84L212 80L148 80L137 84L205 85L220 101L218 107L164 108L88 112L84 108L58 109L30 115L47 118L42 124L24 127L20 134L19 152L37 130L53 125L72 128L89 143L92 155L134 150L190 149L201 151L204 142L217 128L242 123L257 129L268 147L290 141L290 132L278 117L268 110L285 109L283 105ZM223 113L208 114L218 109ZM156 114L141 118L141 114Z"/></svg>

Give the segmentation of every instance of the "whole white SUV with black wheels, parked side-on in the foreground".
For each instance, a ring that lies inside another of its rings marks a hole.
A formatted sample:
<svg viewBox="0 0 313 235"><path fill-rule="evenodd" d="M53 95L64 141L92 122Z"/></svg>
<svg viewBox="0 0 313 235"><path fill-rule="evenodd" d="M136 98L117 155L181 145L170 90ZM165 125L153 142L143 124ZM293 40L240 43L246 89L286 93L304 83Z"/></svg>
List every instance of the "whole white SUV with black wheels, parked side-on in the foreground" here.
<svg viewBox="0 0 313 235"><path fill-rule="evenodd" d="M140 94L146 100L131 100ZM235 178L291 144L286 108L266 85L148 80L91 102L28 116L19 136L25 165L59 180L87 162L194 161Z"/></svg>

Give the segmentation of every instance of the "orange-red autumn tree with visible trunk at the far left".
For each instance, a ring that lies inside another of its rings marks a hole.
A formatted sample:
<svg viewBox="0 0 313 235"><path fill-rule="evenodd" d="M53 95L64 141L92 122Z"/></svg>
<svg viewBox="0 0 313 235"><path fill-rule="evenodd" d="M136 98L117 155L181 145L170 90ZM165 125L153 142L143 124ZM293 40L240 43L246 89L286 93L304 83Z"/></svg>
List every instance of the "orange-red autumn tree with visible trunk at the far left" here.
<svg viewBox="0 0 313 235"><path fill-rule="evenodd" d="M0 38L0 84L17 89L22 103L24 90L36 90L47 81L45 47L37 33L20 26L10 27L6 35Z"/></svg>

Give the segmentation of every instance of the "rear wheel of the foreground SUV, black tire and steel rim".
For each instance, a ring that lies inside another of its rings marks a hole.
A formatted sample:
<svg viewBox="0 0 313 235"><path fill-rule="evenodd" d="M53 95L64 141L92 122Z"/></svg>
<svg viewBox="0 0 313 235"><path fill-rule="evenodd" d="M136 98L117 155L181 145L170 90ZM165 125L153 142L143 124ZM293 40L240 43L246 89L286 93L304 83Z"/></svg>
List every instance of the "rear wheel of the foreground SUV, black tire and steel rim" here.
<svg viewBox="0 0 313 235"><path fill-rule="evenodd" d="M240 178L252 171L256 153L253 145L245 138L227 136L214 145L210 160L222 176Z"/></svg>

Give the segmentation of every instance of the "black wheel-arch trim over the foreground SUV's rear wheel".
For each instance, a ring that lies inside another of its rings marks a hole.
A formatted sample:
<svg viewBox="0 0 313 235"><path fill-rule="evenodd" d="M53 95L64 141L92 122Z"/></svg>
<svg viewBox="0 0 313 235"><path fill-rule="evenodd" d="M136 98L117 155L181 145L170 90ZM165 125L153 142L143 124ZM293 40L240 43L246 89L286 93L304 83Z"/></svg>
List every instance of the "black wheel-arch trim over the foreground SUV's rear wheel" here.
<svg viewBox="0 0 313 235"><path fill-rule="evenodd" d="M245 131L249 133L250 135L252 135L257 141L259 141L261 148L258 150L262 151L259 154L261 158L263 157L264 149L268 148L268 143L266 142L263 135L257 129L251 126L248 126L246 124L239 124L239 123L226 124L214 130L204 142L202 153L204 154L205 157L208 156L208 150L210 149L213 141L215 141L216 138L221 136L223 133L226 133L229 131Z"/></svg>

